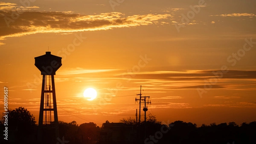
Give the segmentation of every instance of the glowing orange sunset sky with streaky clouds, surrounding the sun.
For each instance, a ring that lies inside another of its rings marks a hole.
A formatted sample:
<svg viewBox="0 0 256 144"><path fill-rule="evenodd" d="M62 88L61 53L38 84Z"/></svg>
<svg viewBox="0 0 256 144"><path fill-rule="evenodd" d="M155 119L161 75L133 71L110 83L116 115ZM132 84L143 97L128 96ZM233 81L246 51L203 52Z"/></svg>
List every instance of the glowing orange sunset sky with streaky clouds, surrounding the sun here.
<svg viewBox="0 0 256 144"><path fill-rule="evenodd" d="M102 126L135 118L140 85L151 99L148 113L159 121L255 121L255 6L255 0L4 0L0 86L9 88L9 108L25 107L38 121L42 76L34 57L49 46L62 57L55 75L60 121ZM98 92L93 101L82 95L88 87Z"/></svg>

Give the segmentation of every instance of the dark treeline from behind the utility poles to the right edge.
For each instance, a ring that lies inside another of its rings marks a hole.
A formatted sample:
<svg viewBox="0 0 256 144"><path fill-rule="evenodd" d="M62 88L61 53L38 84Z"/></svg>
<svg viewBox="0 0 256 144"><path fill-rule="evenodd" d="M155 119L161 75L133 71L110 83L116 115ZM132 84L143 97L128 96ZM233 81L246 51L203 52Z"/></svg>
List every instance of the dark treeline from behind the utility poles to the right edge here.
<svg viewBox="0 0 256 144"><path fill-rule="evenodd" d="M121 122L138 129L139 135L142 135L139 144L256 144L256 121L240 126L230 122L197 127L196 124L183 121L160 124L151 115L149 121L140 125L132 118Z"/></svg>

